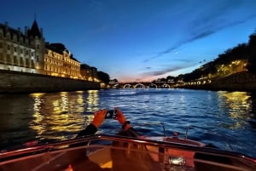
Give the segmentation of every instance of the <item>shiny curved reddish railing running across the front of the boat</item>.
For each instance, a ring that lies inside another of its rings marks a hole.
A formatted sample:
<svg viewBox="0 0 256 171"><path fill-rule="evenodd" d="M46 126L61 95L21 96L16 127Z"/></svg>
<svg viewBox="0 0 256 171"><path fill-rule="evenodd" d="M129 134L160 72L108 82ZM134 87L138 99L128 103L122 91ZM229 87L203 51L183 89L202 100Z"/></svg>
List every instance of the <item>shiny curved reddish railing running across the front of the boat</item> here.
<svg viewBox="0 0 256 171"><path fill-rule="evenodd" d="M84 146L84 145L95 145L95 143L92 143L92 142L97 142L98 140L105 143L109 142L109 144L111 144L111 142L114 142L114 141L119 141L119 142L127 142L127 143L139 143L143 145L156 145L163 148L172 147L172 148L195 151L195 152L214 151L214 153L218 153L218 154L224 154L224 155L231 154L233 156L241 157L241 153L234 152L234 151L223 151L223 150L214 149L214 148L201 148L201 146L195 146L195 145L159 141L159 140L148 140L148 139L133 138L133 137L131 138L131 137L125 137L125 136L119 136L119 135L95 134L95 135L84 136L84 137L76 138L72 140L62 140L60 142L55 142L52 144L46 143L43 145L25 147L25 148L21 148L14 151L3 151L3 152L0 152L0 159L3 159L4 157L20 156L24 154L31 154L31 153L35 154L37 152L43 152L43 151L44 152L58 151L66 148L73 148L73 147ZM102 145L109 145L109 144L103 143Z"/></svg>

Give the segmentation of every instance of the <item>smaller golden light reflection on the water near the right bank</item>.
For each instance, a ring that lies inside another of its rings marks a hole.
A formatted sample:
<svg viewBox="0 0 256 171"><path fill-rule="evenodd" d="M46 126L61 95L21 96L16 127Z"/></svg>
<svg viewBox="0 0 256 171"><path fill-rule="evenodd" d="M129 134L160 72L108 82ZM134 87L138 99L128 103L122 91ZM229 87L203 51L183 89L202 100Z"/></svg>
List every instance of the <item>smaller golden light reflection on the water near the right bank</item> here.
<svg viewBox="0 0 256 171"><path fill-rule="evenodd" d="M224 128L237 129L242 128L247 124L252 116L252 101L251 96L247 92L218 92L219 117L227 117L226 123L222 123ZM222 113L228 113L225 116Z"/></svg>

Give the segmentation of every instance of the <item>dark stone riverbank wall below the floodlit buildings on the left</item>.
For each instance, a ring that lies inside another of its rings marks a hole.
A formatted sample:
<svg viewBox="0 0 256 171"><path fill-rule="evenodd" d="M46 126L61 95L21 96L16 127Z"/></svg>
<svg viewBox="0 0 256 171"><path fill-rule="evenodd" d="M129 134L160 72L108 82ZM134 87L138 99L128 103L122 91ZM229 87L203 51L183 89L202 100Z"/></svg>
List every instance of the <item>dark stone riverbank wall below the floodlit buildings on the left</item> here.
<svg viewBox="0 0 256 171"><path fill-rule="evenodd" d="M100 89L100 83L64 77L0 70L0 94Z"/></svg>

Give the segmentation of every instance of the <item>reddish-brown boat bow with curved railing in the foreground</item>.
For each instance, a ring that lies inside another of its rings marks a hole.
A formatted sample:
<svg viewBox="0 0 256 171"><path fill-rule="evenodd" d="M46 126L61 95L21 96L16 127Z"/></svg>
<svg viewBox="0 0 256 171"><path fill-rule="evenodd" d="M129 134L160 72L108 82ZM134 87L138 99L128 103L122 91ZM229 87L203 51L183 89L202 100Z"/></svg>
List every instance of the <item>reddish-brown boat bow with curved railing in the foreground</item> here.
<svg viewBox="0 0 256 171"><path fill-rule="evenodd" d="M1 171L255 171L256 159L173 136L94 134L0 153Z"/></svg>

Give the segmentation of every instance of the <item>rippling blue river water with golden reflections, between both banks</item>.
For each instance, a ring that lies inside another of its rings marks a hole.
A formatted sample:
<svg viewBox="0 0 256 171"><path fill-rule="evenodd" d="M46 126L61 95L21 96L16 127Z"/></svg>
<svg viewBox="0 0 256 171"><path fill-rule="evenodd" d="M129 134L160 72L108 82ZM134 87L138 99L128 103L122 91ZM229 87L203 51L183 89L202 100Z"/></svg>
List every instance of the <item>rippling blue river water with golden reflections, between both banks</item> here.
<svg viewBox="0 0 256 171"><path fill-rule="evenodd" d="M256 157L256 94L167 88L1 94L0 150L71 139L92 121L93 111L115 106L141 134L183 137L189 128L189 139ZM119 128L107 119L98 133Z"/></svg>

